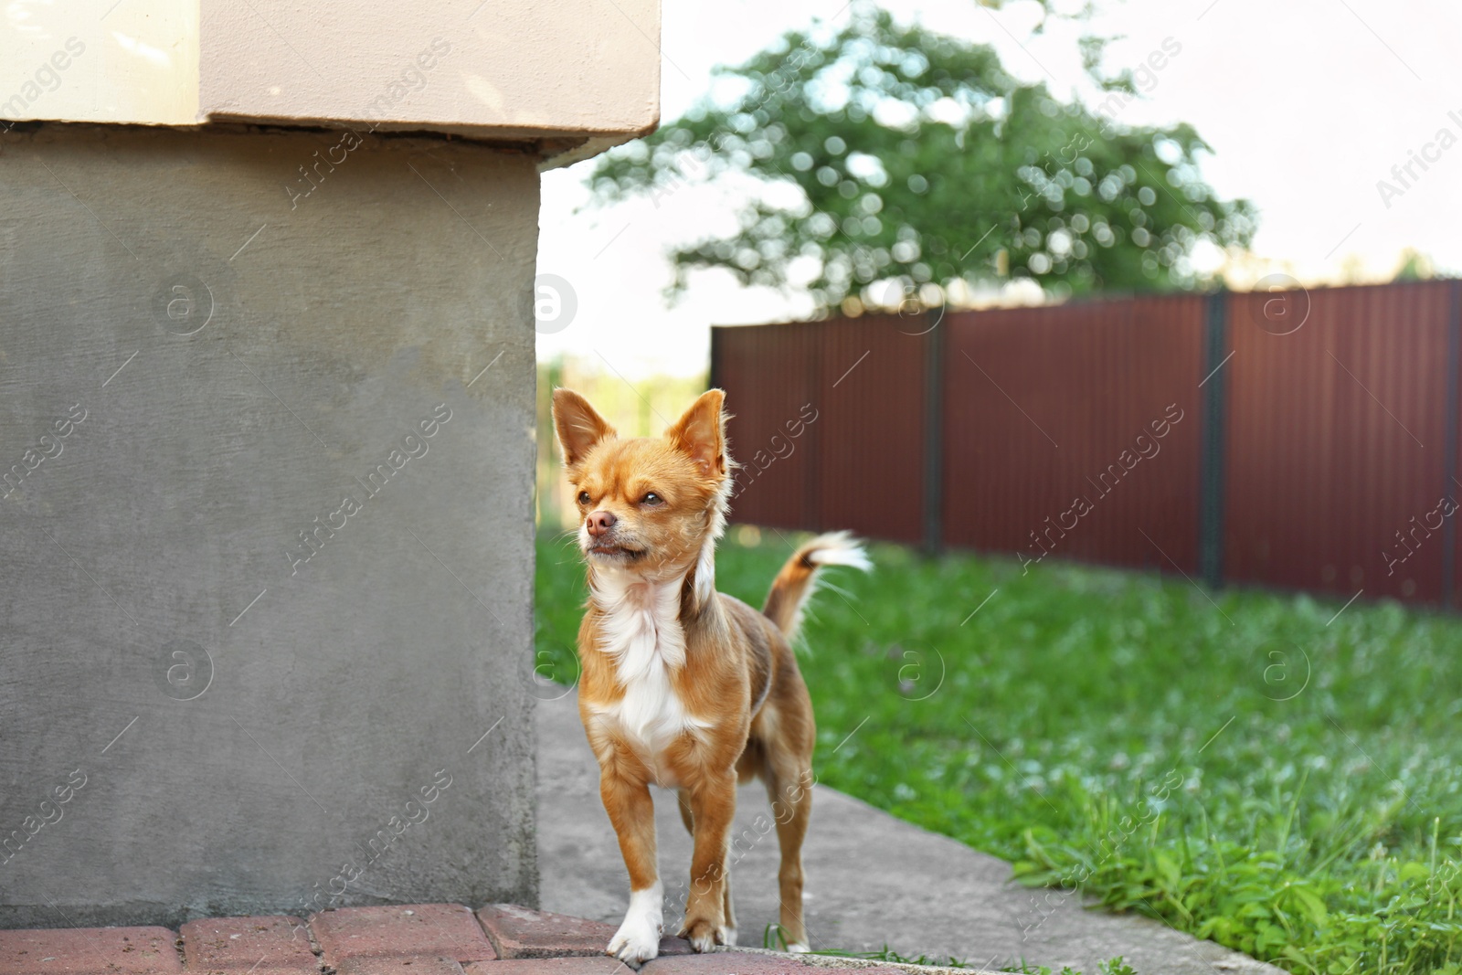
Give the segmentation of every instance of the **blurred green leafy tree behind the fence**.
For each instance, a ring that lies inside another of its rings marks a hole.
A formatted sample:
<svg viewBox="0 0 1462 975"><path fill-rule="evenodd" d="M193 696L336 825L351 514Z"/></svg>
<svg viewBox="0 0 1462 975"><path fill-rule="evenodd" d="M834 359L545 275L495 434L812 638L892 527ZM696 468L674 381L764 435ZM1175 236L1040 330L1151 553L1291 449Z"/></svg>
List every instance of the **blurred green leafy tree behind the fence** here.
<svg viewBox="0 0 1462 975"><path fill-rule="evenodd" d="M1130 73L1099 75L1102 44L1082 41L1088 73L1136 96ZM1199 175L1208 145L1190 126L1116 124L1018 82L990 47L876 7L718 73L732 95L708 95L591 177L598 203L746 187L735 234L673 251L673 292L694 268L807 287L822 308L939 304L955 282L1018 278L1057 295L1186 288L1200 284L1200 241L1247 246L1254 229L1249 202Z"/></svg>

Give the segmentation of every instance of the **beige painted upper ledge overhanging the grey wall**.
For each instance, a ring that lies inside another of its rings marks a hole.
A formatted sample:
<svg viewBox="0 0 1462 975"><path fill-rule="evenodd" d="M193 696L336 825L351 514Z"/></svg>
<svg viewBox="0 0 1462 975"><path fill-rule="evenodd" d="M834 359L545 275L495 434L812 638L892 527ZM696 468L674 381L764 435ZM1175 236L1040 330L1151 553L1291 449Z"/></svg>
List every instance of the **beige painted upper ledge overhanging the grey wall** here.
<svg viewBox="0 0 1462 975"><path fill-rule="evenodd" d="M12 0L0 118L360 123L613 145L659 115L659 0Z"/></svg>

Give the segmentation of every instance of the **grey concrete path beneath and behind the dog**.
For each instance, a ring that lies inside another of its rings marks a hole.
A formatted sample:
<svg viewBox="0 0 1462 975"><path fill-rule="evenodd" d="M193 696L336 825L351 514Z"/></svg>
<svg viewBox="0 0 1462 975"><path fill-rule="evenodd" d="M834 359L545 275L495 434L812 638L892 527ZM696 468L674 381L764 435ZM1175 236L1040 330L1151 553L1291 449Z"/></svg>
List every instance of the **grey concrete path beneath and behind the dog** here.
<svg viewBox="0 0 1462 975"><path fill-rule="evenodd" d="M599 803L599 770L583 738L573 693L538 710L538 864L544 911L617 924L629 880ZM680 924L690 838L673 792L654 789L665 881L665 927ZM732 833L732 890L741 944L760 946L776 921L775 830L766 792L741 789ZM760 826L760 829L759 829ZM1082 908L1075 896L1028 890L1010 865L826 786L816 786L804 848L807 927L814 950L956 957L1000 968L1019 960L1096 975L1123 956L1139 975L1284 975L1281 969L1133 915Z"/></svg>

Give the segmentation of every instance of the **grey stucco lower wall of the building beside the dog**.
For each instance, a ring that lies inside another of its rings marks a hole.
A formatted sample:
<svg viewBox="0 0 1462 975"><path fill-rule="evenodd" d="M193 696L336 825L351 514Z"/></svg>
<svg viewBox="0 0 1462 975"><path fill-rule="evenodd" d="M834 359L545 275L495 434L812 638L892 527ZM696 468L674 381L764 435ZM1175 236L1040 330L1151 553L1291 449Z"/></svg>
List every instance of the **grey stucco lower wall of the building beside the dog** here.
<svg viewBox="0 0 1462 975"><path fill-rule="evenodd" d="M537 903L535 161L341 143L0 137L0 927Z"/></svg>

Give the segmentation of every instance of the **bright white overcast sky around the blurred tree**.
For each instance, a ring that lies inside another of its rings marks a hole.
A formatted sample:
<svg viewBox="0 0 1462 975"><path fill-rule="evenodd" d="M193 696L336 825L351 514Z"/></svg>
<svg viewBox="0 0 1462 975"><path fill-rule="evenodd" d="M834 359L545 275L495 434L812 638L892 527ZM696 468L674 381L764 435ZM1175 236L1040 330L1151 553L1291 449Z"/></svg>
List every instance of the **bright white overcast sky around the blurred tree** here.
<svg viewBox="0 0 1462 975"><path fill-rule="evenodd" d="M844 0L664 0L662 118L677 118L711 85L787 29L838 23ZM1306 284L1385 275L1406 247L1462 270L1462 6L1436 0L1098 0L1088 29L1120 34L1107 67L1136 67L1164 39L1181 51L1142 101L1133 124L1187 121L1213 148L1203 172L1219 194L1260 213L1253 278ZM1092 104L1076 48L1079 25L1031 37L1035 10L975 0L886 3L946 34L993 44L1006 69ZM1171 47L1171 44L1170 44ZM656 56L646 41L646 57ZM1456 113L1455 115L1449 113ZM1443 134L1446 130L1447 134ZM1425 156L1424 164L1412 155ZM1411 175L1404 167L1411 164ZM1392 167L1402 167L1401 183ZM627 377L706 368L711 325L804 317L798 295L743 289L705 272L667 306L668 244L730 229L725 194L684 189L656 203L579 209L592 162L544 175L538 270L575 292L572 320L539 335L539 357L569 354ZM1396 190L1383 199L1377 181ZM576 212L577 210L577 212Z"/></svg>

